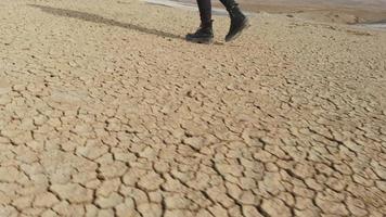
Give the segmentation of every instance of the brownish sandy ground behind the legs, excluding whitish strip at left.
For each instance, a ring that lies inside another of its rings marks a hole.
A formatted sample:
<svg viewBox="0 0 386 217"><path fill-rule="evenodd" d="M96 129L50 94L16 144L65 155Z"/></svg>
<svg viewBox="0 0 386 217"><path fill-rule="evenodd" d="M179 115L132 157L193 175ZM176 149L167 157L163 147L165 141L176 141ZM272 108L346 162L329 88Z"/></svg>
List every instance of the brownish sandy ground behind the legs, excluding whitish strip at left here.
<svg viewBox="0 0 386 217"><path fill-rule="evenodd" d="M222 7L218 0L213 2L216 7ZM244 10L250 12L291 14L318 22L344 24L386 22L386 0L237 0L237 2Z"/></svg>

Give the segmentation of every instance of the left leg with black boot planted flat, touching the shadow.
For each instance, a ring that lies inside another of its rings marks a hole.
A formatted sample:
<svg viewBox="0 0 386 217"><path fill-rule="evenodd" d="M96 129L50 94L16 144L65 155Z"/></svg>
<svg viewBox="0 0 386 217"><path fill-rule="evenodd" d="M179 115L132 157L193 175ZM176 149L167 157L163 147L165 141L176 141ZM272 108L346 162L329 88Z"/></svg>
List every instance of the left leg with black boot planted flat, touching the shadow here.
<svg viewBox="0 0 386 217"><path fill-rule="evenodd" d="M197 0L201 25L194 34L188 34L186 40L198 43L210 43L214 39L210 0Z"/></svg>

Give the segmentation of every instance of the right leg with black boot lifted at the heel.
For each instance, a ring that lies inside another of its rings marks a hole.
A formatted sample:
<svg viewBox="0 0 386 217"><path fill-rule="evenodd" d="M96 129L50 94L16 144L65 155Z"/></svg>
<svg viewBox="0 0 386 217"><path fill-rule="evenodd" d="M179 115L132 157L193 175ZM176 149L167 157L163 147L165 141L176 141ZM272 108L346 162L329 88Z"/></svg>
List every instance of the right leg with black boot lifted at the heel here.
<svg viewBox="0 0 386 217"><path fill-rule="evenodd" d="M249 26L248 18L240 10L239 4L234 0L220 0L227 8L229 16L231 17L231 27L226 36L226 41L236 39L241 33Z"/></svg>

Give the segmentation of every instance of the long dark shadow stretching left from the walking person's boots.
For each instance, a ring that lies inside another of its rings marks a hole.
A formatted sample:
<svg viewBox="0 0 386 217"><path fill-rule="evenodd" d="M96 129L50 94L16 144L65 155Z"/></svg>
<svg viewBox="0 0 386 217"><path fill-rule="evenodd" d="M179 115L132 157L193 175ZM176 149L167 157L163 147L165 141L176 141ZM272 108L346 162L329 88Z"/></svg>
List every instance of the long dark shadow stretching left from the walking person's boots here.
<svg viewBox="0 0 386 217"><path fill-rule="evenodd" d="M74 10L68 10L68 9L59 9L59 8L52 8L52 7L46 7L46 5L38 5L38 4L28 4L29 7L38 8L41 11L46 13L50 13L56 16L65 16L65 17L72 17L72 18L78 18L81 21L87 21L87 22L92 22L92 23L98 23L98 24L105 24L110 26L117 26L121 28L128 28L132 30L138 30L144 34L151 34L151 35L156 35L160 37L167 37L167 38L175 38L175 39L182 39L181 36L157 30L157 29L152 29L152 28L146 28L142 26L138 26L134 24L127 24L127 23L121 23L118 21L114 21L111 18L105 18L103 16L100 16L98 14L92 14L92 13L87 13L87 12L80 12L80 11L74 11Z"/></svg>

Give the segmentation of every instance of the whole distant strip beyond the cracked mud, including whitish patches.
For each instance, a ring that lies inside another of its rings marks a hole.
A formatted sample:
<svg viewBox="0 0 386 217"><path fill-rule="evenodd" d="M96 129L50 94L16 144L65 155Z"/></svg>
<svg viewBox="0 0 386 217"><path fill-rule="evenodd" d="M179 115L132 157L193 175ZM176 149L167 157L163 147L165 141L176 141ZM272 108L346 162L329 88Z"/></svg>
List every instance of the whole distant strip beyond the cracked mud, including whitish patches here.
<svg viewBox="0 0 386 217"><path fill-rule="evenodd" d="M152 4L160 4L179 9L197 11L196 0L144 0ZM332 3L320 0L300 2L298 0L236 0L246 14L250 13L270 13L284 14L288 17L296 17L306 21L316 21L324 23L349 24L349 25L373 25L382 24L386 29L386 0L381 3L371 4L375 0L363 1L355 4L347 0L343 2L351 3ZM213 12L217 15L228 15L224 7L218 0L213 0ZM369 2L369 4L366 4Z"/></svg>

